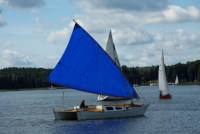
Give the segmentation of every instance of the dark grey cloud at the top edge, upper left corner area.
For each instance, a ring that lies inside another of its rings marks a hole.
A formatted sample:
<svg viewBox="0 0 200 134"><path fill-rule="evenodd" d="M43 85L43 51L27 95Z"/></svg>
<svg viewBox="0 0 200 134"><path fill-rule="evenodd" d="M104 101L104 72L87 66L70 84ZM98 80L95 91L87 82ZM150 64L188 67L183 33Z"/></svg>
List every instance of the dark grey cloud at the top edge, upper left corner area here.
<svg viewBox="0 0 200 134"><path fill-rule="evenodd" d="M45 5L44 0L8 0L8 4L17 8L37 8Z"/></svg>

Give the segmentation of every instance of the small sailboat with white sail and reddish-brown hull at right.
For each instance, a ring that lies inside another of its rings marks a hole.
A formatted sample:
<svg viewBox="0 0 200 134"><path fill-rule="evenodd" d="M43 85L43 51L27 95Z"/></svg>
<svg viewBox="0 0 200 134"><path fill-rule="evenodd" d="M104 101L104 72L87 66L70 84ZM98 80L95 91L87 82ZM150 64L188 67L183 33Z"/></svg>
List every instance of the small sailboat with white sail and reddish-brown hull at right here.
<svg viewBox="0 0 200 134"><path fill-rule="evenodd" d="M162 50L161 62L158 70L158 83L159 83L159 91L160 91L160 99L171 99L171 95L169 93L167 78L165 74L165 65L164 65L164 55Z"/></svg>

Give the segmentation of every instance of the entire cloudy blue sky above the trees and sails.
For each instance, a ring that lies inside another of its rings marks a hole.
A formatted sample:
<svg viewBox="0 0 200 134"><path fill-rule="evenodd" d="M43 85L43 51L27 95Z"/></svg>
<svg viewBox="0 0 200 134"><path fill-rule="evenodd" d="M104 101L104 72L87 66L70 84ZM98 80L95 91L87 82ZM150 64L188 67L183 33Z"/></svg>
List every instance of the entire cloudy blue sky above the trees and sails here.
<svg viewBox="0 0 200 134"><path fill-rule="evenodd" d="M53 68L73 19L104 49L111 30L121 65L200 60L200 0L0 0L0 69Z"/></svg>

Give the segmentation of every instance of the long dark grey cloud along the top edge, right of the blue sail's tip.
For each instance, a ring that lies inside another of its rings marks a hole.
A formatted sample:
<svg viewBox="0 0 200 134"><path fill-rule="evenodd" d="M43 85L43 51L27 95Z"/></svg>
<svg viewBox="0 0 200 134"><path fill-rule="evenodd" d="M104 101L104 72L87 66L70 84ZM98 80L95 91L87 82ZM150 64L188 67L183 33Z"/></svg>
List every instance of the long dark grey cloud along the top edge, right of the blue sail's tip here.
<svg viewBox="0 0 200 134"><path fill-rule="evenodd" d="M82 8L96 10L161 11L167 7L167 0L74 0Z"/></svg>

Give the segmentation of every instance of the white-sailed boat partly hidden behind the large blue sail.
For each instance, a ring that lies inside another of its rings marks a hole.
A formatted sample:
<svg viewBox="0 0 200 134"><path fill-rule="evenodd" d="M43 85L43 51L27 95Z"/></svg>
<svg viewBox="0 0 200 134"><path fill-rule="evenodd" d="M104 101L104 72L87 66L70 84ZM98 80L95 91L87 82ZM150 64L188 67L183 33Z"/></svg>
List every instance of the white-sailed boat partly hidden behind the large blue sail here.
<svg viewBox="0 0 200 134"><path fill-rule="evenodd" d="M110 30L110 33L109 33L109 36L108 36L108 41L107 41L107 45L106 45L106 52L111 57L111 59L117 64L117 66L120 68L120 62L119 62L117 51L115 49L115 45L114 45L114 42L113 42L111 30ZM97 96L97 100L99 100L99 101L122 100L122 99L128 99L128 98L107 96L107 95L102 95L102 94L99 94Z"/></svg>

